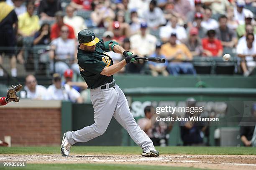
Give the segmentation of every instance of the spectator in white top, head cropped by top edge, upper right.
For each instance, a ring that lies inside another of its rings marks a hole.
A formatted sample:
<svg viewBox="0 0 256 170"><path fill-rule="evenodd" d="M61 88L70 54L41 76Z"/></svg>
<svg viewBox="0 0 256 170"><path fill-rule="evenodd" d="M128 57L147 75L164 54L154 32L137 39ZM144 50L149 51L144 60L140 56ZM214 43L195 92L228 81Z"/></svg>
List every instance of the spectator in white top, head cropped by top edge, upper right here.
<svg viewBox="0 0 256 170"><path fill-rule="evenodd" d="M213 14L222 15L226 13L227 7L231 5L228 0L202 0L202 3L209 7Z"/></svg>

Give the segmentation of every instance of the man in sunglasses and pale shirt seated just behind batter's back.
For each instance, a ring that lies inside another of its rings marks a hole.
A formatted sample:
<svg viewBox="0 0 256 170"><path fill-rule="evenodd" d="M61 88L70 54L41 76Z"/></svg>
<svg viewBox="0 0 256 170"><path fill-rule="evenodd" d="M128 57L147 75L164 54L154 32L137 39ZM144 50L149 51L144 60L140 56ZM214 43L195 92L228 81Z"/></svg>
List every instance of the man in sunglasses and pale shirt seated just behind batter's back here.
<svg viewBox="0 0 256 170"><path fill-rule="evenodd" d="M60 35L51 42L51 71L63 75L65 70L71 68L80 74L77 57L75 57L77 56L77 44L74 39L68 38L69 28L66 25L61 27Z"/></svg>

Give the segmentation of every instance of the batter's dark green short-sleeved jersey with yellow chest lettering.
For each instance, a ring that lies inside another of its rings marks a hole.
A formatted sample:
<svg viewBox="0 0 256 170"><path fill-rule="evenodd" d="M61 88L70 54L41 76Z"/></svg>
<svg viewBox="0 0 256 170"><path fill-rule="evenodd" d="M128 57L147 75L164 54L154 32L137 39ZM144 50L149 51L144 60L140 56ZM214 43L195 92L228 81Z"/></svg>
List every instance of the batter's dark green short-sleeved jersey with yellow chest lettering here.
<svg viewBox="0 0 256 170"><path fill-rule="evenodd" d="M108 48L109 43L109 41L105 42L105 44L103 41L99 41L93 52L78 48L77 61L80 74L90 89L95 89L113 81L113 75L108 77L100 74L105 67L113 65L112 58L106 53L110 51Z"/></svg>

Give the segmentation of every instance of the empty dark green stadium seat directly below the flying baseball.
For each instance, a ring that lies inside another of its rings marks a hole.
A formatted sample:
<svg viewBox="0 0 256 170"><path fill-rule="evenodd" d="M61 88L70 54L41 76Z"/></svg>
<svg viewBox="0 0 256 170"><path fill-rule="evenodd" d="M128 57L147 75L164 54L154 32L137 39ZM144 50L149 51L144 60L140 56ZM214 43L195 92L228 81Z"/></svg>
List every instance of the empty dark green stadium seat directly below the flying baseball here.
<svg viewBox="0 0 256 170"><path fill-rule="evenodd" d="M235 64L233 62L217 62L215 67L216 74L234 74Z"/></svg>

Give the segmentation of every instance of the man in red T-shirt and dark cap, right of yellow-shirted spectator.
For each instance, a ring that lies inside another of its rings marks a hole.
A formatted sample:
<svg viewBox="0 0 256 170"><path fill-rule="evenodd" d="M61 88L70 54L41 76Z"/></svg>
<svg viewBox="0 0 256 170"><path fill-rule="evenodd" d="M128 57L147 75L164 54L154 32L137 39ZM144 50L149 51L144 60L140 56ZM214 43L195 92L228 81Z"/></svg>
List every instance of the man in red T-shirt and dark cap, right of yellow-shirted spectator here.
<svg viewBox="0 0 256 170"><path fill-rule="evenodd" d="M221 41L215 38L215 30L207 31L207 38L202 39L203 53L204 56L220 57L223 53L223 46Z"/></svg>

